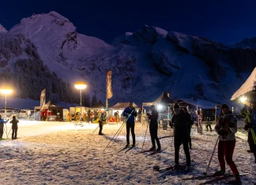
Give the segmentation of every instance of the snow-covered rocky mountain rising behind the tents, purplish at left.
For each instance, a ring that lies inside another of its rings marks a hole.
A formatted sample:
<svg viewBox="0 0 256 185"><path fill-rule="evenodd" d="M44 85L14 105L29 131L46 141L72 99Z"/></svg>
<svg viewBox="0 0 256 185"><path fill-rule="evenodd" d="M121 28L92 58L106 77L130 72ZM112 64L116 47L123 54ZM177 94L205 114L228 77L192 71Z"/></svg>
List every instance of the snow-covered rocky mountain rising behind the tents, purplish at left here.
<svg viewBox="0 0 256 185"><path fill-rule="evenodd" d="M149 102L162 91L171 91L173 99L227 102L249 76L232 65L231 47L147 25L107 44L77 33L70 20L50 12L22 19L8 33L30 39L51 71L71 84L87 81L87 91L101 100L112 70L112 103Z"/></svg>

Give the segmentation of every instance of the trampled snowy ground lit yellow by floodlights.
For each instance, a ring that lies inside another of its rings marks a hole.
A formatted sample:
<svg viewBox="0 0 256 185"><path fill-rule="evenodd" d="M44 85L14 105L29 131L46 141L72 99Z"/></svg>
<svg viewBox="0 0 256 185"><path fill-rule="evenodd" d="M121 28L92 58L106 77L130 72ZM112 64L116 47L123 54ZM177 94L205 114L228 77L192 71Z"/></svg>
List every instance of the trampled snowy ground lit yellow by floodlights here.
<svg viewBox="0 0 256 185"><path fill-rule="evenodd" d="M10 124L8 125L8 130ZM118 142L103 151L121 124L104 125L103 136L91 136L97 124L85 124L84 127L63 122L21 121L17 140L0 142L0 178L1 184L198 184L204 180L183 180L185 177L201 175L205 172L216 135L204 131L198 135L192 129L193 160L191 172L168 172L165 178L153 171L153 165L173 165L174 147L171 138L160 139L164 151L145 157L136 154L141 151L146 125L137 124L135 134L139 144L133 150L118 153L126 145L125 129L119 135ZM170 135L159 130L160 137ZM6 135L5 135L6 136ZM148 136L145 149L151 147ZM239 172L249 172L242 176L244 184L256 183L256 165L253 154L247 154L247 142L237 139L234 160ZM180 164L185 163L183 147L180 150ZM216 154L209 173L218 169ZM228 173L231 173L229 168ZM229 178L232 179L232 178ZM225 183L220 181L219 183Z"/></svg>

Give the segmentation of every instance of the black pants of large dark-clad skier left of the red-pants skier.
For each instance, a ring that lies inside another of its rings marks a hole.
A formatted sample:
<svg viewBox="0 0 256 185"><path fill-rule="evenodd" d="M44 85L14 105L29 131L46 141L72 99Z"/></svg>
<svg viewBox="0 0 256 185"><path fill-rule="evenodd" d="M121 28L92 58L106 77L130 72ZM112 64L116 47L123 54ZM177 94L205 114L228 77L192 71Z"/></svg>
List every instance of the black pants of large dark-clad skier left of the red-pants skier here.
<svg viewBox="0 0 256 185"><path fill-rule="evenodd" d="M190 161L190 150L187 144L188 139L186 139L186 136L184 137L183 135L180 136L175 136L174 137L174 142L175 142L175 164L179 164L179 146L183 144L183 150L186 154L186 165L190 166L191 161Z"/></svg>

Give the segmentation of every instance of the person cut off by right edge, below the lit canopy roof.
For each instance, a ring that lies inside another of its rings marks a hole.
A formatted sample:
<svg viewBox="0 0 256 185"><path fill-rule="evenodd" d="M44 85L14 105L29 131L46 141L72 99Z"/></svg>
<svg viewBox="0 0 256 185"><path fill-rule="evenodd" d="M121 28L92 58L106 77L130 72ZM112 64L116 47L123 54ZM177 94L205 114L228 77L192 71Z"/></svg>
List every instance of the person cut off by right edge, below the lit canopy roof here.
<svg viewBox="0 0 256 185"><path fill-rule="evenodd" d="M246 119L244 122L246 123L244 129L248 131L248 143L250 146L249 153L254 153L255 164L256 164L256 143L254 142L255 133L256 133L256 102L250 101L250 109L249 113L246 113ZM255 140L256 141L256 140Z"/></svg>

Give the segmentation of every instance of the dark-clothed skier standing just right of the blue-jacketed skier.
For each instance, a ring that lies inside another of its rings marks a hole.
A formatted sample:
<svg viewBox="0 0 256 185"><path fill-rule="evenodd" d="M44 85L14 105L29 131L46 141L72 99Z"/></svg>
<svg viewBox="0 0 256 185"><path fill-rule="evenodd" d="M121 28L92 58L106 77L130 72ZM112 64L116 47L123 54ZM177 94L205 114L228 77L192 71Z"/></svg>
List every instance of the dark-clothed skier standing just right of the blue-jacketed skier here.
<svg viewBox="0 0 256 185"><path fill-rule="evenodd" d="M149 117L149 132L151 136L151 142L152 142L152 148L149 151L156 150L156 143L157 143L157 151L161 150L160 141L157 137L157 131L158 131L158 124L157 124L157 118L158 118L158 112L156 111L155 105L150 106L151 113L147 113ZM156 142L155 142L156 140Z"/></svg>

